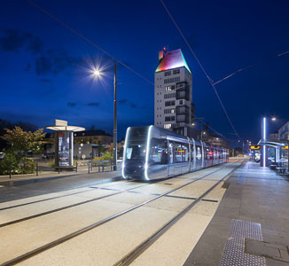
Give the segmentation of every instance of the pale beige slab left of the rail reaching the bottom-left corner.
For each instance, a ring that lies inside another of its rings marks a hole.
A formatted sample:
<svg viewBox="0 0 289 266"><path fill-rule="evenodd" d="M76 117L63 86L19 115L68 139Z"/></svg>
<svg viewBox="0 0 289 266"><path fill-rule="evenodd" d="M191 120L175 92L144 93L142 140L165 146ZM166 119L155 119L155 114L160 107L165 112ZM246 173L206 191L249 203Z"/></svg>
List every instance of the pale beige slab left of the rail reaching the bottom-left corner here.
<svg viewBox="0 0 289 266"><path fill-rule="evenodd" d="M0 264L132 205L98 200L0 228ZM24 244L23 244L24 243ZM46 264L49 265L49 264Z"/></svg>

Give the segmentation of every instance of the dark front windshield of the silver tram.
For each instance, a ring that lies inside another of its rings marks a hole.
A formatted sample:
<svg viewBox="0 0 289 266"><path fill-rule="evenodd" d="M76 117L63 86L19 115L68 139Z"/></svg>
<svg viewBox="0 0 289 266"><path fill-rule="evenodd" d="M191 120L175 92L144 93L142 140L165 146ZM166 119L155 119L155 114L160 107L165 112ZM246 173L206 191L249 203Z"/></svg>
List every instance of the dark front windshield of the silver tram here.
<svg viewBox="0 0 289 266"><path fill-rule="evenodd" d="M145 160L147 128L129 130L125 160Z"/></svg>

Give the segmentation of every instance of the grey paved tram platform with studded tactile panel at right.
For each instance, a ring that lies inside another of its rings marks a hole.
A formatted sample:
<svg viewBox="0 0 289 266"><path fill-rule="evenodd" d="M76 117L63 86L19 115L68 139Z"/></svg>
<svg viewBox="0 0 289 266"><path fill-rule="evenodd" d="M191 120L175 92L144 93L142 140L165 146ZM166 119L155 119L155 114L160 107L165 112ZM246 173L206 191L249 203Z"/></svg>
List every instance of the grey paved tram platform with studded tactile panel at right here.
<svg viewBox="0 0 289 266"><path fill-rule="evenodd" d="M191 265L289 265L289 182L247 161L191 251Z"/></svg>

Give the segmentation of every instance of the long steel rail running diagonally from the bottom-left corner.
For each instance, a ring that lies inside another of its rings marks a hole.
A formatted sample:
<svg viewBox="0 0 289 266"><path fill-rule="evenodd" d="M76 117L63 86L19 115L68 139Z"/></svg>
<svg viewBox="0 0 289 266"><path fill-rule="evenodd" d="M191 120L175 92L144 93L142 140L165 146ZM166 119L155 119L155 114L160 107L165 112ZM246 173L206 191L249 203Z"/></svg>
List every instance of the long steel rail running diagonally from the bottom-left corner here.
<svg viewBox="0 0 289 266"><path fill-rule="evenodd" d="M238 161L235 161L235 162L233 162L233 163L231 163L231 164L235 164L235 163L238 163ZM230 165L230 164L229 164L229 165ZM223 168L226 168L227 166L228 166L228 165L224 166ZM194 180L191 180L190 182L188 182L188 183L186 183L186 184L182 184L182 185L180 185L180 186L178 186L178 187L176 187L176 188L174 188L174 189L172 189L172 190L169 190L168 192L164 192L164 193L162 193L162 194L160 194L160 195L152 198L151 200L145 200L145 201L142 202L142 203L139 203L139 204L137 204L137 205L135 205L135 206L133 206L133 207L129 207L128 209L123 210L123 211L121 211L121 212L119 212L119 213L117 213L117 214L110 215L110 216L106 217L105 219L102 219L102 220L100 220L100 221L98 221L98 222L96 222L96 223L91 223L90 225L88 225L88 226L86 226L86 227L83 227L83 228L80 229L80 230L77 230L77 231L74 231L74 232L72 232L72 233L70 233L70 234L67 234L66 236L64 236L64 237L62 237L62 238L53 240L53 241L51 241L50 243L47 243L47 244L45 244L45 245L43 245L43 246L39 246L39 247L37 247L37 248L35 248L35 249L31 250L31 251L28 251L28 252L25 253L25 254L21 254L20 256L17 256L17 257L15 257L15 258L13 258L13 259L10 260L10 261L4 262L2 265L3 265L3 266L8 266L8 265L15 265L15 264L17 264L17 263L19 263L19 262L23 262L23 261L27 260L28 258L31 258L31 257L35 256L36 254L41 254L41 253L43 253L44 251L50 249L50 248L53 247L53 246L59 246L61 243L64 243L64 242L66 242L67 240L74 239L75 237L81 235L81 234L84 233L84 232L90 231L90 230L92 230L92 229L97 228L98 226L100 226L100 225L102 225L102 224L108 223L109 221L112 221L113 219L115 219L115 218L117 218L117 217L119 217L119 216L121 216L121 215L125 215L125 214L129 213L130 211L132 211L132 210L134 210L134 209L137 209L138 207L142 207L142 206L144 206L144 205L152 202L153 200L158 200L158 199L160 199L161 197L164 197L164 196L168 195L168 194L171 193L171 192L176 192L177 190L179 190L179 189L181 189L181 188L183 188L183 187L185 187L185 186L187 186L187 185L189 185L189 184L193 184L193 183L195 183L196 181L201 180L202 178L205 178L205 177L207 177L207 176L213 175L213 174L215 174L216 172L223 170L223 168L218 168L218 169L216 169L215 171L212 171L212 172L210 172L210 173L207 173L207 174L204 175L204 176L200 176L200 177L198 177L198 178L196 178L196 179L194 179ZM226 176L225 176L225 177L226 177ZM225 177L223 177L223 179L224 179ZM223 180L223 179L222 179L222 180ZM222 182L222 181L220 181L220 182ZM219 182L219 183L220 183L220 182ZM132 189L134 189L134 188L131 188L130 190L132 190ZM116 192L115 194L119 194L119 193L121 193L121 192Z"/></svg>

